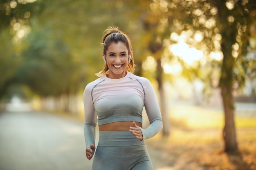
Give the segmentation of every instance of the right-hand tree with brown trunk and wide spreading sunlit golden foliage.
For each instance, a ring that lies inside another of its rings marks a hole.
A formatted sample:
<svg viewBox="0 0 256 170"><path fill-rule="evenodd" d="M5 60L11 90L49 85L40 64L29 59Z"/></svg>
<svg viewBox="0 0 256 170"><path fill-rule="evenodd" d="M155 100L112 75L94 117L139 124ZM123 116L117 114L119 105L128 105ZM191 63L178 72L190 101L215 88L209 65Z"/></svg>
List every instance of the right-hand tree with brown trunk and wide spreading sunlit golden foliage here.
<svg viewBox="0 0 256 170"><path fill-rule="evenodd" d="M243 87L248 63L252 63L252 60L246 59L246 54L249 46L249 27L255 17L252 15L255 2L253 0L154 0L150 7L155 17L158 16L158 22L151 22L151 28L157 30L161 27L154 28L155 23L167 22L168 29L171 29L172 33L186 34L186 43L204 51L205 56L209 56L211 52L222 52L223 60L218 62L208 59L210 62L206 63L209 66L207 69L205 62L197 62L191 67L191 71L195 66L198 69L205 69L204 74L187 75L190 78L199 76L200 79L206 80L213 77L215 68L220 70L219 87L225 113L224 150L226 152L237 150L233 91L236 89L236 84L239 88ZM202 40L195 41L193 37L197 34L203 37ZM161 35L163 34L160 34L159 39L163 42L165 37ZM168 40L170 44L175 42L172 39ZM186 69L190 70L189 67ZM207 82L212 83L209 80Z"/></svg>

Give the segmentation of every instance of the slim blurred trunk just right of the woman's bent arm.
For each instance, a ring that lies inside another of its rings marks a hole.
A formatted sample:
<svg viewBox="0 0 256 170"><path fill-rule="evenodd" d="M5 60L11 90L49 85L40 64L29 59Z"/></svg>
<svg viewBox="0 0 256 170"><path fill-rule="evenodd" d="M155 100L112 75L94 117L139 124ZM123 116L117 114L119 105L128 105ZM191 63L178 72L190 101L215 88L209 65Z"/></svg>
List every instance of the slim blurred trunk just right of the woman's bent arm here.
<svg viewBox="0 0 256 170"><path fill-rule="evenodd" d="M163 68L161 66L161 59L157 59L157 83L158 83L158 91L159 91L159 100L160 100L160 110L162 113L163 119L163 135L170 135L170 120L168 118L168 112L166 111L166 100L164 96L164 88L163 88Z"/></svg>

